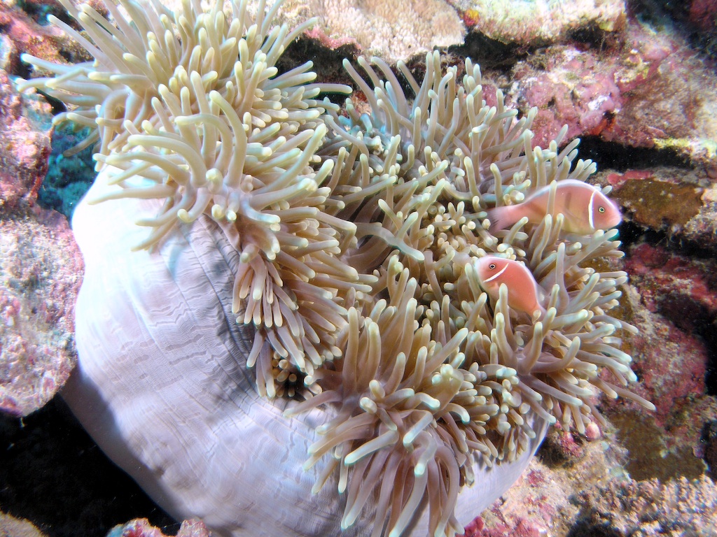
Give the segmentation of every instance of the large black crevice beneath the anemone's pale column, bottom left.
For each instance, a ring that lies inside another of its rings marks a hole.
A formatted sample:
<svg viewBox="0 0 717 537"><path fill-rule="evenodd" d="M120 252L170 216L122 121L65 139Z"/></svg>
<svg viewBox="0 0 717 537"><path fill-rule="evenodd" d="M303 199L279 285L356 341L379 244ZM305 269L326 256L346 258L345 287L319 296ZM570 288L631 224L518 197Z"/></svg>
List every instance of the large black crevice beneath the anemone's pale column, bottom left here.
<svg viewBox="0 0 717 537"><path fill-rule="evenodd" d="M179 530L95 445L60 397L22 420L0 415L0 511L32 520L48 537L104 537L138 517L166 534Z"/></svg>

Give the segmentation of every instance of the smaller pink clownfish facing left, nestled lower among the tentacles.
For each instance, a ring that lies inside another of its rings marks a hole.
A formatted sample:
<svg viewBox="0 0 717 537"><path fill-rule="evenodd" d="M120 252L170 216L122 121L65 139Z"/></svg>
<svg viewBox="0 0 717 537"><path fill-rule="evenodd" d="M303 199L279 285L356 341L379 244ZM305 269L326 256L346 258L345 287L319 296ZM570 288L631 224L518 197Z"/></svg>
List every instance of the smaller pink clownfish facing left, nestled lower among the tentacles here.
<svg viewBox="0 0 717 537"><path fill-rule="evenodd" d="M498 299L500 284L508 287L508 306L511 309L525 311L532 315L536 310L545 312L541 300L545 291L538 286L528 267L513 261L496 256L485 256L475 262L480 285L493 299Z"/></svg>

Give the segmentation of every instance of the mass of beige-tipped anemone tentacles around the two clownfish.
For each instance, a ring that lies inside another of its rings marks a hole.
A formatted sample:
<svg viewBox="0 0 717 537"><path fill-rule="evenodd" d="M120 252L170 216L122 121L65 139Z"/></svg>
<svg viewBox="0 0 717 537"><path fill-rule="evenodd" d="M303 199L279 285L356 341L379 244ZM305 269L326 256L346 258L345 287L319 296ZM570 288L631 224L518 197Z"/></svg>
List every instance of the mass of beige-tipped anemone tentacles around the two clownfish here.
<svg viewBox="0 0 717 537"><path fill-rule="evenodd" d="M53 76L19 86L70 105L57 122L95 127L85 144L97 142L113 190L91 203L162 200L137 248L200 219L222 229L239 253L233 311L255 331L257 390L300 400L286 420L333 409L306 467L323 465L315 491L338 475L342 527L371 500L374 536L401 535L426 508L430 534L460 533L454 508L474 469L516 460L536 420L584 432L602 420L596 389L652 407L625 388L636 377L619 332L635 329L609 315L627 275L594 268L622 256L614 231L566 231L592 223L592 202L559 211L559 185L595 165L576 160L576 140L559 151L564 132L532 148L535 112L517 119L500 91L486 105L470 59L459 81L427 54L421 83L399 62L412 98L381 59L359 59L368 80L345 61L371 107L360 114L350 98L343 110L318 100L349 88L314 83L311 62L278 72L311 24L272 28L278 3L251 21L245 1L229 18L221 3L173 14L120 0L127 19L109 0L116 26L62 3L87 37L54 24L95 62L25 56ZM488 211L540 189L540 221L490 227ZM511 281L485 292L488 255L529 269L540 308L516 308Z"/></svg>

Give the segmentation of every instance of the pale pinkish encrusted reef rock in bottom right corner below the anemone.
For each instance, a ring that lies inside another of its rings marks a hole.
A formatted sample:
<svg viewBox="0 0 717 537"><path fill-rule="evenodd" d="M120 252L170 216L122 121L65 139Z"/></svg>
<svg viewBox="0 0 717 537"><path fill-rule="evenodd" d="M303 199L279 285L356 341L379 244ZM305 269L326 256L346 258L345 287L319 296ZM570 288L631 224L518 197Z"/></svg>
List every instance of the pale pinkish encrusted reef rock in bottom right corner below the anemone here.
<svg viewBox="0 0 717 537"><path fill-rule="evenodd" d="M616 468L615 461L599 455L599 442L589 451L584 468L599 468L599 478L576 470L557 473L534 461L501 502L466 527L465 536L715 535L716 495L709 478L638 482L610 476L604 470ZM592 486L576 488L580 478Z"/></svg>

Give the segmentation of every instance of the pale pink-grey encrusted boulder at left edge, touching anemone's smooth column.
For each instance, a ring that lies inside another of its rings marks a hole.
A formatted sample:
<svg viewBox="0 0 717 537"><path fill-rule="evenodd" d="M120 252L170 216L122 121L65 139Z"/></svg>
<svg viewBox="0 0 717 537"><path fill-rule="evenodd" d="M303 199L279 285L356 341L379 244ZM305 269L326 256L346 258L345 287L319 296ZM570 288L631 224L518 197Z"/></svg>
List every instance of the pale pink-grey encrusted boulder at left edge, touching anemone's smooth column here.
<svg viewBox="0 0 717 537"><path fill-rule="evenodd" d="M0 212L0 410L42 407L75 365L82 258L64 216Z"/></svg>

